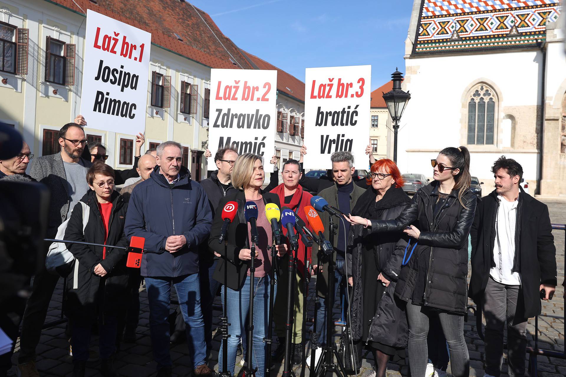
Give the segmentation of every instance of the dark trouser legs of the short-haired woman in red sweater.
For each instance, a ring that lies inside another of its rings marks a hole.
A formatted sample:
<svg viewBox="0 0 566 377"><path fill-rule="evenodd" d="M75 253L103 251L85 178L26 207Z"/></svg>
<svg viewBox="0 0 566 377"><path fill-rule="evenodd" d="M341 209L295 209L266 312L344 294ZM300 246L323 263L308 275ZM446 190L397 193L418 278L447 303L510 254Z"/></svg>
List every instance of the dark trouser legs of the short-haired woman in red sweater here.
<svg viewBox="0 0 566 377"><path fill-rule="evenodd" d="M116 352L115 315L105 315L104 324L98 320L98 348L101 359L107 359ZM91 343L92 322L90 320L71 319L71 345L73 361L87 361L88 346Z"/></svg>

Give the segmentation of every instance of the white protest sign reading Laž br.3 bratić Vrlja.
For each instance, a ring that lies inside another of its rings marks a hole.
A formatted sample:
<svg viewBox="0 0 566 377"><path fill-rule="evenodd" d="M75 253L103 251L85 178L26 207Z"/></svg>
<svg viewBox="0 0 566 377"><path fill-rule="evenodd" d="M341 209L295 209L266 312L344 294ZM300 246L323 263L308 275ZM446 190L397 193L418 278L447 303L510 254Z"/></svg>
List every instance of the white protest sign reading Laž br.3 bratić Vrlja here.
<svg viewBox="0 0 566 377"><path fill-rule="evenodd" d="M330 168L340 150L366 167L371 66L307 68L305 76L305 168Z"/></svg>

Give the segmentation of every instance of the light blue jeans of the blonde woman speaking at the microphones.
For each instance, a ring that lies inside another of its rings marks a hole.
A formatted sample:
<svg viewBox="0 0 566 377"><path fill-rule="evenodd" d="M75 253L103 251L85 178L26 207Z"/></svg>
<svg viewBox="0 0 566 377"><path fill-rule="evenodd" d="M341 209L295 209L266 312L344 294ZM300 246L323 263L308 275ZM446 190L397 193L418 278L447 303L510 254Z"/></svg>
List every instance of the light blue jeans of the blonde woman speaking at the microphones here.
<svg viewBox="0 0 566 377"><path fill-rule="evenodd" d="M269 319L269 275L264 278L254 278L254 349L252 350L252 367L256 367L258 371L256 376L263 377L265 374L265 351L267 344L263 339L267 334L267 324ZM234 366L236 363L236 351L244 329L247 328L246 317L250 311L250 276L246 277L239 291L228 288L228 370L234 374ZM277 284L275 285L274 294L277 293ZM221 291L222 305L224 305L224 287ZM220 345L220 353L218 354L218 371L224 370L222 362L223 346ZM246 355L244 355L246 357ZM245 359L246 360L246 359Z"/></svg>

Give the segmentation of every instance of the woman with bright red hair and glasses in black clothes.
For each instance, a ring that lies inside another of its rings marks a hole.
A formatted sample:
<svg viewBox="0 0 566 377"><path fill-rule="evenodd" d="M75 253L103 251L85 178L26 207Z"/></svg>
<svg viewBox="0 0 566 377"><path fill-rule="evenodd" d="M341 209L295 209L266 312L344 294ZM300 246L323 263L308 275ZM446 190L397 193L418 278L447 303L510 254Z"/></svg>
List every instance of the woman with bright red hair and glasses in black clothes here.
<svg viewBox="0 0 566 377"><path fill-rule="evenodd" d="M352 215L368 219L395 219L409 204L403 191L403 178L397 164L380 159L371 166L367 178L370 188L358 199ZM354 340L371 347L376 377L385 377L392 357L404 357L408 339L405 302L394 298L400 275L402 253L395 253L397 242L404 250L402 232L371 233L371 228L350 228L351 272L354 289L351 300L351 327Z"/></svg>

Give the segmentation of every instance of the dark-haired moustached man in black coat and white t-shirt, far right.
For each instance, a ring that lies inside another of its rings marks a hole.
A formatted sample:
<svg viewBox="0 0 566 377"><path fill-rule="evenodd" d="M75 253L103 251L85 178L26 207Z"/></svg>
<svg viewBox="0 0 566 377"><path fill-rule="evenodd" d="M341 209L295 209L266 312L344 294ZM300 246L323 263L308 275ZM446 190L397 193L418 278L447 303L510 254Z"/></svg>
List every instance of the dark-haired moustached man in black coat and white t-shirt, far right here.
<svg viewBox="0 0 566 377"><path fill-rule="evenodd" d="M495 190L478 202L471 226L468 295L486 315L486 376L499 377L507 321L509 375L525 375L526 326L556 288L556 248L548 207L520 186L523 168L501 156Z"/></svg>

